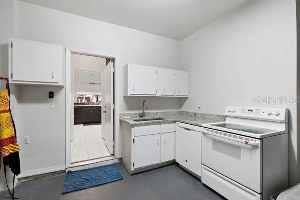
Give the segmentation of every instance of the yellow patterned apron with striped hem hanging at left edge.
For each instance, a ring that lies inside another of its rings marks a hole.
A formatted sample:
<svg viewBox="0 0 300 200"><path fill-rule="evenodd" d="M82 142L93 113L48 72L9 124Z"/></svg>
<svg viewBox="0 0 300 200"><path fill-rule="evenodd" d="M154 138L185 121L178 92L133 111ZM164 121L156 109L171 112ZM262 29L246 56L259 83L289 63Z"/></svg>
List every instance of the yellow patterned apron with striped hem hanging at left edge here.
<svg viewBox="0 0 300 200"><path fill-rule="evenodd" d="M6 157L10 153L20 151L20 147L15 137L13 119L9 109L9 91L8 79L6 80L6 88L0 92L0 161L1 157ZM1 167L1 164L0 164Z"/></svg>

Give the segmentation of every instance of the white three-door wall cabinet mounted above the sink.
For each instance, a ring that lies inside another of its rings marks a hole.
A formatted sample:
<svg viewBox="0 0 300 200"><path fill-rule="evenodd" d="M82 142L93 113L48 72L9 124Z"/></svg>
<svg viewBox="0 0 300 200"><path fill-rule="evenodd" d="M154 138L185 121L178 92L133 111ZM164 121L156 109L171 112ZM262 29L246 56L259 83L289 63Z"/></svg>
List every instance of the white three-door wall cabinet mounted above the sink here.
<svg viewBox="0 0 300 200"><path fill-rule="evenodd" d="M124 66L124 96L189 96L186 71L127 64Z"/></svg>

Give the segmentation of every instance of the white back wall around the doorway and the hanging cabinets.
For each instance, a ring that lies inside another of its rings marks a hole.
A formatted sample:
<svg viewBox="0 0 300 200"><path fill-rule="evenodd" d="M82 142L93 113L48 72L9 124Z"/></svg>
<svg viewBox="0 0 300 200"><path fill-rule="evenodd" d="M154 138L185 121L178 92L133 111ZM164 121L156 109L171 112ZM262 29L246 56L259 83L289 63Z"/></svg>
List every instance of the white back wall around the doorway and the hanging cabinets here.
<svg viewBox="0 0 300 200"><path fill-rule="evenodd" d="M145 32L104 23L69 13L19 2L19 38L119 55L120 73L127 63L179 68L179 42ZM122 87L122 75L116 80ZM48 108L48 91L55 91L54 109ZM143 99L149 108L179 110L177 98L151 97L124 100L120 111L138 111ZM65 164L65 88L20 86L20 135L30 136L21 145L21 169L29 175L59 169ZM163 106L165 105L165 106ZM119 125L119 124L118 124ZM116 132L120 136L119 132ZM120 156L120 152L116 151Z"/></svg>

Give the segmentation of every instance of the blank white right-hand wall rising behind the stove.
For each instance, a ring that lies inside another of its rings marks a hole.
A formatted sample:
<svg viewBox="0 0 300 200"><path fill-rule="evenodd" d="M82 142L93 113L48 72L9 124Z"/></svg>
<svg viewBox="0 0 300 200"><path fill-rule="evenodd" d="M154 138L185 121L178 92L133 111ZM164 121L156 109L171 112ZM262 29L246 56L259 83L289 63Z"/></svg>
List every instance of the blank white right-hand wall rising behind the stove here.
<svg viewBox="0 0 300 200"><path fill-rule="evenodd" d="M182 110L224 114L226 105L290 109L290 183L299 181L296 105L254 105L252 96L296 96L295 0L253 0L180 41L190 71ZM299 146L299 145L298 145ZM278 158L278 161L280 158Z"/></svg>

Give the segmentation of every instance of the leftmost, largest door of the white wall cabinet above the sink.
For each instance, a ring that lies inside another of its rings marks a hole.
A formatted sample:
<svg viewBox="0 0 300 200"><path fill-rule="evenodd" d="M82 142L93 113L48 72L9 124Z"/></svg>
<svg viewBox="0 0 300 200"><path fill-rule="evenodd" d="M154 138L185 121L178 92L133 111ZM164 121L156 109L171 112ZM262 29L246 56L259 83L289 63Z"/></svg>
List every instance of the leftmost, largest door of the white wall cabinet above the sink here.
<svg viewBox="0 0 300 200"><path fill-rule="evenodd" d="M157 69L150 66L130 64L130 94L156 95Z"/></svg>

